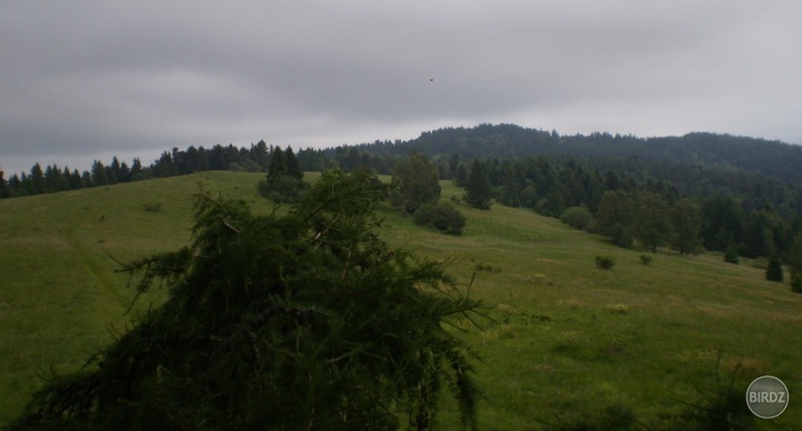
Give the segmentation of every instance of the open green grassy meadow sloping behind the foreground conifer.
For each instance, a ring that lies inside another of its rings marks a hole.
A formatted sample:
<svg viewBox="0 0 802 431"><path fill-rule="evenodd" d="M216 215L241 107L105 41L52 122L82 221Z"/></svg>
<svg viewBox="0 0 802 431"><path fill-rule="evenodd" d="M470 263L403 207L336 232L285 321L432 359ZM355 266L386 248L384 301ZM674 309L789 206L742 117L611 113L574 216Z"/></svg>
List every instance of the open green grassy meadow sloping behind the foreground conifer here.
<svg viewBox="0 0 802 431"><path fill-rule="evenodd" d="M158 305L155 291L131 306L115 259L184 245L198 182L272 210L256 193L262 177L203 173L0 200L0 424L21 412L42 376L78 370ZM444 200L462 194L441 185ZM791 403L757 424L802 429L802 295L788 284L716 254L661 251L644 265L640 252L531 210L456 206L468 218L462 236L417 227L389 206L380 234L450 262L449 273L466 288L473 280L471 296L492 306L481 330L459 324L482 360L480 429L539 429L609 406L656 423L708 394L717 374L744 393L761 375L780 378ZM599 255L615 267L596 268Z"/></svg>

